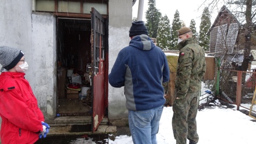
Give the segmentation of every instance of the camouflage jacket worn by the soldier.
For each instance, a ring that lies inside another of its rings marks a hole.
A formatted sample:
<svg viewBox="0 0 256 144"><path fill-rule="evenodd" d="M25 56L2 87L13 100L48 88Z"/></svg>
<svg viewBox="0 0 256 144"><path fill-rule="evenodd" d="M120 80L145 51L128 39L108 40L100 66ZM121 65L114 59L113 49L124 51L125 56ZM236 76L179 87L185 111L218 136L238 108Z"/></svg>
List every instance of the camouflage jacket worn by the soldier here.
<svg viewBox="0 0 256 144"><path fill-rule="evenodd" d="M206 63L204 49L197 44L196 37L180 42L178 49L180 53L175 79L175 97L183 99L186 97L187 92L200 91Z"/></svg>

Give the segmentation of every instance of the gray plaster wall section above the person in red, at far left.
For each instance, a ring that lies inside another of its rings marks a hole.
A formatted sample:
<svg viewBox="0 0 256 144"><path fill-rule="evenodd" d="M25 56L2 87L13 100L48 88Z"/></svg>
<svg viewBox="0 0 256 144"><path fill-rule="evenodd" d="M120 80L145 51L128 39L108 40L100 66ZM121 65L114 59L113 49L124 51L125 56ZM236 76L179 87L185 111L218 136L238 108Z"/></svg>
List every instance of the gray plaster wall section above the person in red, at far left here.
<svg viewBox="0 0 256 144"><path fill-rule="evenodd" d="M31 61L29 53L31 53L30 48L32 46L31 4L30 0L0 1L0 45L22 50L28 64ZM0 65L0 67L2 66ZM29 78L29 74L26 73L25 76ZM0 123L2 123L1 118Z"/></svg>

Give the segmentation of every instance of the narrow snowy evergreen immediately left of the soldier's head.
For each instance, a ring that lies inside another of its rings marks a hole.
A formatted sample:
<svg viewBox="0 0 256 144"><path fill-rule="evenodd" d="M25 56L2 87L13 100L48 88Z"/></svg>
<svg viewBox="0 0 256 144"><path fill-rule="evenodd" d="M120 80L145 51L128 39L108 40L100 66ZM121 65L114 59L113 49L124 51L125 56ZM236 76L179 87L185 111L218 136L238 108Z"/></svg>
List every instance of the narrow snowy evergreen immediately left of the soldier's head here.
<svg viewBox="0 0 256 144"><path fill-rule="evenodd" d="M171 46L172 50L177 50L177 31L181 28L181 21L180 21L180 13L178 10L174 13L174 18L172 20L172 29L171 29Z"/></svg>

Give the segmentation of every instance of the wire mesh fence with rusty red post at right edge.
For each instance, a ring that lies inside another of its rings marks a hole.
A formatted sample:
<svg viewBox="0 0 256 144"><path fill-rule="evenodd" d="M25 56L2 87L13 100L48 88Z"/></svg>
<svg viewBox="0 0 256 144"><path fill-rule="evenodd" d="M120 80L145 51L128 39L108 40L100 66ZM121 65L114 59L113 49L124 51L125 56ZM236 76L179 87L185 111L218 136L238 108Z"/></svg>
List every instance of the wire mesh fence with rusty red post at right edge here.
<svg viewBox="0 0 256 144"><path fill-rule="evenodd" d="M256 72L220 69L219 98L229 103L250 109L255 90ZM254 105L252 111L256 112Z"/></svg>

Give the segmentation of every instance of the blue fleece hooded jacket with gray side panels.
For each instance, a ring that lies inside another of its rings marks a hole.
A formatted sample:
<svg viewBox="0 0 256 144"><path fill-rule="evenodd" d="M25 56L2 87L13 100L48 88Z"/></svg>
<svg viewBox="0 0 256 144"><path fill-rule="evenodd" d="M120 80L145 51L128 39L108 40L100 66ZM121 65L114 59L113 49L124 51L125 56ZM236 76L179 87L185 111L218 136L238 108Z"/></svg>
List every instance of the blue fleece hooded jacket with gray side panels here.
<svg viewBox="0 0 256 144"><path fill-rule="evenodd" d="M169 67L163 51L147 35L133 37L130 45L119 52L113 69L118 71L111 71L109 83L125 86L127 109L164 105L162 82L169 82Z"/></svg>

